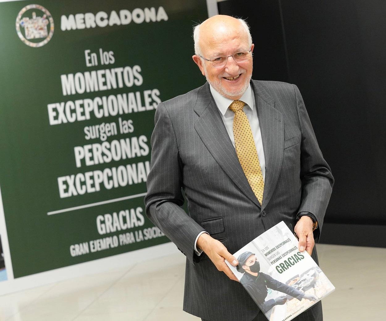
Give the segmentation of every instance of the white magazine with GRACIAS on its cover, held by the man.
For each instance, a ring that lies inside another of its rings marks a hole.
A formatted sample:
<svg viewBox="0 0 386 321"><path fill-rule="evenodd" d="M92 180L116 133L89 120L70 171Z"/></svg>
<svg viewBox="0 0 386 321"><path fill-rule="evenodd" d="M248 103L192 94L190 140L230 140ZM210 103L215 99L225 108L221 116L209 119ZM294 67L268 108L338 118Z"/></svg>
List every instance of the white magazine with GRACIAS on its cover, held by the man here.
<svg viewBox="0 0 386 321"><path fill-rule="evenodd" d="M225 261L270 321L289 321L335 290L282 221Z"/></svg>

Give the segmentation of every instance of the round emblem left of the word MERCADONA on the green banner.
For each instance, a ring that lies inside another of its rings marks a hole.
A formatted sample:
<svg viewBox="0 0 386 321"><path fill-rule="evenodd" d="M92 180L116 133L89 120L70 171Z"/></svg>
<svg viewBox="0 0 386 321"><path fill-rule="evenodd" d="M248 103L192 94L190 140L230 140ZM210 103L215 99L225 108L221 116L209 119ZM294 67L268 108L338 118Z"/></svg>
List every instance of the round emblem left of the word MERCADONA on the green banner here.
<svg viewBox="0 0 386 321"><path fill-rule="evenodd" d="M27 5L17 15L16 32L27 46L44 46L54 34L54 19L43 6Z"/></svg>

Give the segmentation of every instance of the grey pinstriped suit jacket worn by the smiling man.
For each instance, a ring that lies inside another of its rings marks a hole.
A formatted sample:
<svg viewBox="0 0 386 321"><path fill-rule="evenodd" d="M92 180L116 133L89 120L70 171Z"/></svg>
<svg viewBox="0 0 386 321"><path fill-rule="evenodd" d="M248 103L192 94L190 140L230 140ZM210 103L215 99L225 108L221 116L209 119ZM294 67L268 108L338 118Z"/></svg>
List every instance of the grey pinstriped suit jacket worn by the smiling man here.
<svg viewBox="0 0 386 321"><path fill-rule="evenodd" d="M146 213L186 255L184 311L213 321L251 320L259 309L240 283L205 253L194 253L197 234L205 230L235 253L281 220L293 231L299 212L315 215L320 232L334 183L298 88L273 81L251 85L266 159L262 204L208 83L159 104L151 138ZM189 215L180 207L181 187Z"/></svg>

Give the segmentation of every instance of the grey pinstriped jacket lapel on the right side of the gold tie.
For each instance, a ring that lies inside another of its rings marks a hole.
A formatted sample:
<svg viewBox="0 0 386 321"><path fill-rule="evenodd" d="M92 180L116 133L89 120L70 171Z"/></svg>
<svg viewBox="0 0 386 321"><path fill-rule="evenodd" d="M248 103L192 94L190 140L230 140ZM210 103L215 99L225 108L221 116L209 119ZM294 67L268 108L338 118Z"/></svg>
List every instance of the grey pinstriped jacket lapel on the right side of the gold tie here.
<svg viewBox="0 0 386 321"><path fill-rule="evenodd" d="M284 121L275 108L275 101L258 82L251 82L255 95L257 117L259 118L263 143L266 173L262 209L264 209L275 189L283 162Z"/></svg>

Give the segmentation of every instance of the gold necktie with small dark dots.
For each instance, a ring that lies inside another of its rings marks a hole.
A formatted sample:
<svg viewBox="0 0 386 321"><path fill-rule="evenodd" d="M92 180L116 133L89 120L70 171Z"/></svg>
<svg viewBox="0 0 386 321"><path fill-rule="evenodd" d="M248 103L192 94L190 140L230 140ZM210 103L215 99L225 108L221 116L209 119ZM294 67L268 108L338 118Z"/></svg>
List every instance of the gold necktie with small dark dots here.
<svg viewBox="0 0 386 321"><path fill-rule="evenodd" d="M245 102L235 100L229 109L235 113L233 119L233 134L235 137L236 154L241 167L260 204L263 201L264 179L261 172L259 156L257 155L251 125L247 115L242 110Z"/></svg>

